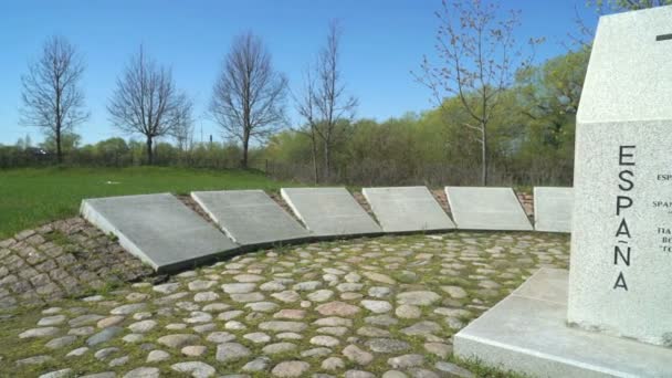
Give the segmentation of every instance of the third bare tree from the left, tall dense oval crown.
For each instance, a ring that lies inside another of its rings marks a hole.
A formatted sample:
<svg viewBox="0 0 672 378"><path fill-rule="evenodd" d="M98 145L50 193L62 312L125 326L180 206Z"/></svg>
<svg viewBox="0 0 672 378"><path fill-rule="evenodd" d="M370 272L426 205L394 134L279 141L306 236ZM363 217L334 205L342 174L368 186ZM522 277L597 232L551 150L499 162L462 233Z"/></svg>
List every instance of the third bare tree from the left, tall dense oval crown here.
<svg viewBox="0 0 672 378"><path fill-rule="evenodd" d="M250 139L264 140L285 122L287 80L273 69L262 40L248 32L234 39L214 84L210 113L229 137L243 146L248 168Z"/></svg>

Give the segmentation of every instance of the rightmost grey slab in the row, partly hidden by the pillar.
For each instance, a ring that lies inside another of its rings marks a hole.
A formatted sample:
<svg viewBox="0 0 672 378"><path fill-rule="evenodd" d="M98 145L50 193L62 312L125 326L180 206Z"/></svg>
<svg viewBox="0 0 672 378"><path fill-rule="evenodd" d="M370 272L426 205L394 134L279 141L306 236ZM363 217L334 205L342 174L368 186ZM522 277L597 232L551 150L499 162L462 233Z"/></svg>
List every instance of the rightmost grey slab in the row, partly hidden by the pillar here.
<svg viewBox="0 0 672 378"><path fill-rule="evenodd" d="M534 229L544 232L571 232L571 188L534 188Z"/></svg>

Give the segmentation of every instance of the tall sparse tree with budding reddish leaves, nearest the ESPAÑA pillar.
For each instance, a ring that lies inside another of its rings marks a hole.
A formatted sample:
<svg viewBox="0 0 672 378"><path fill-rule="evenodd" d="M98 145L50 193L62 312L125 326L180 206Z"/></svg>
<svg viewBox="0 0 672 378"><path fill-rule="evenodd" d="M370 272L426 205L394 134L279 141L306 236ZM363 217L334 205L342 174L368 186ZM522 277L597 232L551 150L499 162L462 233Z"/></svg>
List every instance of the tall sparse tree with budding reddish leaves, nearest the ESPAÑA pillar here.
<svg viewBox="0 0 672 378"><path fill-rule="evenodd" d="M428 86L434 101L443 106L448 96L458 96L472 122L464 126L477 133L481 145L482 185L487 185L487 133L492 114L502 94L513 84L515 72L529 64L532 55L522 56L514 30L519 25L519 11L501 19L496 3L481 0L443 0L435 12L437 55L433 65L423 57L420 75L413 76ZM531 43L540 40L531 40Z"/></svg>

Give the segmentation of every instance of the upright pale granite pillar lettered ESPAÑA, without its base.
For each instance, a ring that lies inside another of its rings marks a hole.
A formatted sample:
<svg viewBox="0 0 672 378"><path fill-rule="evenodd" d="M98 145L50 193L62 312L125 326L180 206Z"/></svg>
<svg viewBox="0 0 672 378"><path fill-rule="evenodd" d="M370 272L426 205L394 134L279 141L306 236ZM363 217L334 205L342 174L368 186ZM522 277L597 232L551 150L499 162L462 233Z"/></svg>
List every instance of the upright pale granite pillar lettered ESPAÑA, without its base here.
<svg viewBox="0 0 672 378"><path fill-rule="evenodd" d="M672 7L600 19L574 188L569 324L672 347Z"/></svg>

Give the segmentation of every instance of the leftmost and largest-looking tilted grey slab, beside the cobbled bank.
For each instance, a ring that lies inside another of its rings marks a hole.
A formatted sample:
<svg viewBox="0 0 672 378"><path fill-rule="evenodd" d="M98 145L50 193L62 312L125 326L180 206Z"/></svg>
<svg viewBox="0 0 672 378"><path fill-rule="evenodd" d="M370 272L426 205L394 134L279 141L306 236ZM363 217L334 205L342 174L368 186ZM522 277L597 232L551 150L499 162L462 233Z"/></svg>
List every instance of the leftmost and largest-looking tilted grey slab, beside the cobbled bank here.
<svg viewBox="0 0 672 378"><path fill-rule="evenodd" d="M85 199L81 213L158 272L188 267L238 249L169 193Z"/></svg>

